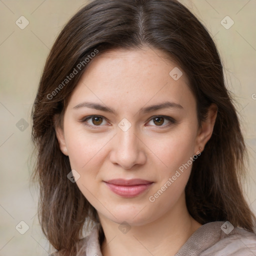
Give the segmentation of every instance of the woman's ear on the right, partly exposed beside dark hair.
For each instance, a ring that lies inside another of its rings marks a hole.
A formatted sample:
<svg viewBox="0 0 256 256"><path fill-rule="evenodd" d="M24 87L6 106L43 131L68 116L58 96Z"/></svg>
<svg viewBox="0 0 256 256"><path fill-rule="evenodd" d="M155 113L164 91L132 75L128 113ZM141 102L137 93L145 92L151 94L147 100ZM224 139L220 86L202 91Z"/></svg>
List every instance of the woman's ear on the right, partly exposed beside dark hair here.
<svg viewBox="0 0 256 256"><path fill-rule="evenodd" d="M199 151L202 151L207 141L210 139L215 120L217 117L217 105L212 103L208 108L207 117L204 121L201 121L201 126L198 129L195 149L198 152L198 148L201 147Z"/></svg>

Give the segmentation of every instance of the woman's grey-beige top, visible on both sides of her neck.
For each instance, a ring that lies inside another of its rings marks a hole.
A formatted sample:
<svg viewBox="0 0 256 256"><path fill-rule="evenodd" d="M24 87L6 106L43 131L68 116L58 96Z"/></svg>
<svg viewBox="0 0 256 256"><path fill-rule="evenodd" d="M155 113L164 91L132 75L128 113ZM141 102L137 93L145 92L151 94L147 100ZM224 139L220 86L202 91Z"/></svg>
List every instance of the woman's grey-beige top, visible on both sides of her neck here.
<svg viewBox="0 0 256 256"><path fill-rule="evenodd" d="M89 235L80 239L76 246L75 256L102 256L98 241L98 225ZM58 252L51 254L59 255ZM174 256L212 255L255 256L256 234L238 227L232 229L229 222L209 222L197 228Z"/></svg>

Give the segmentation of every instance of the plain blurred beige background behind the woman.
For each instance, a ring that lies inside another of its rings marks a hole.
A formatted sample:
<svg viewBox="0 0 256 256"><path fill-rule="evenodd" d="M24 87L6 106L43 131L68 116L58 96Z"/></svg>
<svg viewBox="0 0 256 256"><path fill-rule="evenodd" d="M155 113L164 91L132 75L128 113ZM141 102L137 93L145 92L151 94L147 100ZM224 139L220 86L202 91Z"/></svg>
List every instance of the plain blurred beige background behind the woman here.
<svg viewBox="0 0 256 256"><path fill-rule="evenodd" d="M249 172L244 189L256 213L256 1L182 2L214 36L221 55L248 146ZM48 243L36 215L38 188L29 185L33 163L30 111L56 35L84 4L84 0L0 0L0 256L48 255ZM29 21L24 29L15 24L21 15ZM234 21L229 29L220 23L227 15ZM21 118L28 123L27 128L20 126L21 121L19 128L16 126ZM15 229L21 220L29 226L23 235Z"/></svg>

